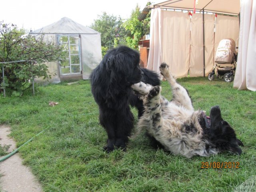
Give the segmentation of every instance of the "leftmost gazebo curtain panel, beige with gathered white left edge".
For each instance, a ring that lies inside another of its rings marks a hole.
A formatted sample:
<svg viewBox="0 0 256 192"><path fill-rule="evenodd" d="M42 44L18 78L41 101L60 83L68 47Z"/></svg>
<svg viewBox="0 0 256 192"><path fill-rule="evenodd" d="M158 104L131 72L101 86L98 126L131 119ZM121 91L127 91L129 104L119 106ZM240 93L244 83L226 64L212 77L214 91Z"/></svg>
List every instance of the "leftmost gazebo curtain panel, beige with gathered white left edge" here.
<svg viewBox="0 0 256 192"><path fill-rule="evenodd" d="M176 78L188 75L190 21L182 12L152 9L148 69L159 71L161 62L169 65Z"/></svg>

